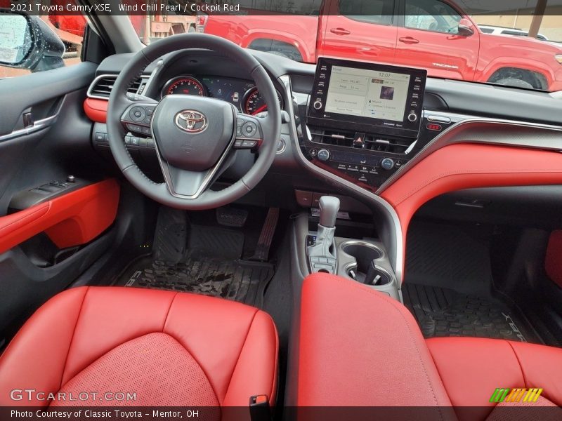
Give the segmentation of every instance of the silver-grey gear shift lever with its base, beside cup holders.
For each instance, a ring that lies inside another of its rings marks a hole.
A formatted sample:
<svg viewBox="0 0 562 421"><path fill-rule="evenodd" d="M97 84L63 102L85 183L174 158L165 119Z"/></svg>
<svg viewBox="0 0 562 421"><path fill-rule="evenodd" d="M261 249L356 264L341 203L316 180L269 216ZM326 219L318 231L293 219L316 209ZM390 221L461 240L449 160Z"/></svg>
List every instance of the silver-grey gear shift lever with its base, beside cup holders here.
<svg viewBox="0 0 562 421"><path fill-rule="evenodd" d="M308 258L312 272L336 272L336 248L334 233L339 211L339 199L334 196L320 197L320 222L316 243L308 247Z"/></svg>

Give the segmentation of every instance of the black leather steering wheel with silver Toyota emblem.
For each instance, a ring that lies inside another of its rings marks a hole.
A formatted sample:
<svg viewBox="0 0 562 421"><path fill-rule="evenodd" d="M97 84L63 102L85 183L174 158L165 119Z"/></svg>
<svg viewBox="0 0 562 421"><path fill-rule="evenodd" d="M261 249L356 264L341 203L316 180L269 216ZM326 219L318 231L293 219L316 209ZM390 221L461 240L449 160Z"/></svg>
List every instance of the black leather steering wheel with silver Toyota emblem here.
<svg viewBox="0 0 562 421"><path fill-rule="evenodd" d="M187 48L216 51L237 62L254 79L267 116L238 113L230 102L214 98L167 95L156 101L127 93L150 63ZM179 209L217 208L249 192L275 159L280 130L280 105L266 70L248 51L209 34L171 36L136 53L119 73L107 107L107 135L119 169L143 194ZM127 131L152 136L163 183L150 180L133 161L124 143ZM235 159L236 149L258 148L258 158L240 180L219 191L209 188Z"/></svg>

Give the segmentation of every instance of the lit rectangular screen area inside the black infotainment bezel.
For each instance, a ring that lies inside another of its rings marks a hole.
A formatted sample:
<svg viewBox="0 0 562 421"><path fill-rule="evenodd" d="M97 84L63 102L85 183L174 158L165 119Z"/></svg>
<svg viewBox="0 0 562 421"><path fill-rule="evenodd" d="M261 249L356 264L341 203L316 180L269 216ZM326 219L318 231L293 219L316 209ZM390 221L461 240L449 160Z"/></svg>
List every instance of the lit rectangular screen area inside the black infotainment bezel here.
<svg viewBox="0 0 562 421"><path fill-rule="evenodd" d="M332 66L325 112L403 121L410 74Z"/></svg>

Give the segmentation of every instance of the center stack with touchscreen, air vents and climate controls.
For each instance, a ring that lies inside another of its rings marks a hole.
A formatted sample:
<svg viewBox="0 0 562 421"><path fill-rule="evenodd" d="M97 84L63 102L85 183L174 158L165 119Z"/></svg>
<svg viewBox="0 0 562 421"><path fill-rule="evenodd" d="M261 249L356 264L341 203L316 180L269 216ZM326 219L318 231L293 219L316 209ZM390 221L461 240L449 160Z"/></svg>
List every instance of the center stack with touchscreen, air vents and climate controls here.
<svg viewBox="0 0 562 421"><path fill-rule="evenodd" d="M372 192L447 127L423 112L427 72L319 58L299 143L316 166Z"/></svg>

